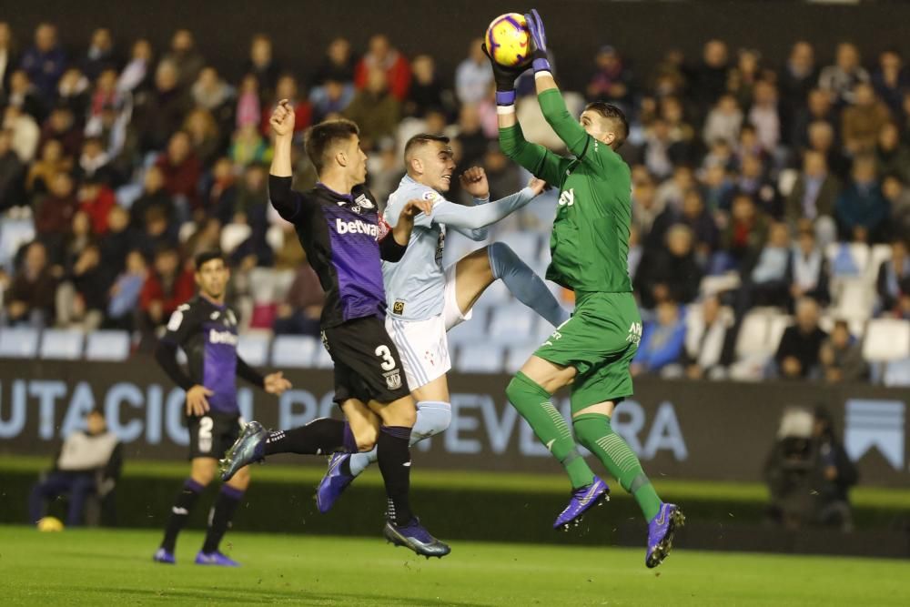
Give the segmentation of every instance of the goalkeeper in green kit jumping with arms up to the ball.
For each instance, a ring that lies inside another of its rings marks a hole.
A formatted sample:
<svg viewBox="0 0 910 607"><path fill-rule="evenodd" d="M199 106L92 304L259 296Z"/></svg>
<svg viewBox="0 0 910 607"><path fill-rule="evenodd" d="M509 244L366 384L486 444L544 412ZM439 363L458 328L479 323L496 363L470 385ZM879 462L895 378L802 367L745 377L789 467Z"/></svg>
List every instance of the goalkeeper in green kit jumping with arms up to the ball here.
<svg viewBox="0 0 910 607"><path fill-rule="evenodd" d="M645 563L656 567L685 519L678 506L661 501L635 453L610 425L615 406L632 395L629 364L642 338L628 272L632 182L628 165L616 153L629 125L622 110L602 102L589 104L580 121L569 115L551 74L541 17L531 10L525 19L535 46L532 65L543 116L573 157L528 143L521 133L515 118L515 78L528 65L504 67L490 60L500 146L535 177L560 187L547 278L573 290L576 307L571 319L524 363L506 393L569 474L571 501L553 524L568 529L610 492L581 458L568 425L551 403L556 390L571 385L575 436L642 508L648 522Z"/></svg>

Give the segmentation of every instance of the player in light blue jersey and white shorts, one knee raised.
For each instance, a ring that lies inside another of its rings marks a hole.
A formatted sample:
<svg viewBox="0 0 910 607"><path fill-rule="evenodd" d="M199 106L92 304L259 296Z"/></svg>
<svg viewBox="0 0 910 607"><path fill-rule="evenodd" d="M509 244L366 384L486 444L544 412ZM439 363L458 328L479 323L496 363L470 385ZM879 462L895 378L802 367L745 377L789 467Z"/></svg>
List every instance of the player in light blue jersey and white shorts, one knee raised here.
<svg viewBox="0 0 910 607"><path fill-rule="evenodd" d="M386 328L401 353L402 366L411 394L418 400L417 421L411 443L429 438L449 427L451 369L447 331L470 319L470 309L494 280L502 279L511 293L553 326L569 318L546 284L527 264L501 242L473 251L449 268L442 266L446 229L452 228L476 240L487 238L486 228L524 207L546 187L531 179L528 187L509 197L488 202L490 188L480 167L461 176L462 187L474 197L474 206L452 203L449 191L455 162L448 137L418 135L405 146L408 174L389 196L385 220L398 223L401 209L410 199L430 200L430 215L414 219L410 242L396 263L383 263L386 288ZM317 504L329 511L353 479L375 457L372 452L337 454L319 483Z"/></svg>

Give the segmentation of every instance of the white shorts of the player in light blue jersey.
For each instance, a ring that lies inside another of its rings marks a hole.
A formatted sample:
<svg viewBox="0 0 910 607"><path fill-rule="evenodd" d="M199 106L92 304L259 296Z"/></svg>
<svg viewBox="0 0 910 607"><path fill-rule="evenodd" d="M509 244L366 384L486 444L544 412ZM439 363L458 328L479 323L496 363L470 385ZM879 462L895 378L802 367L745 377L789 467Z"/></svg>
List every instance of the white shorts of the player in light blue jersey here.
<svg viewBox="0 0 910 607"><path fill-rule="evenodd" d="M408 387L417 389L445 375L452 368L446 332L470 320L455 297L455 264L446 268L446 290L442 313L431 319L403 320L386 316L386 330L399 349Z"/></svg>

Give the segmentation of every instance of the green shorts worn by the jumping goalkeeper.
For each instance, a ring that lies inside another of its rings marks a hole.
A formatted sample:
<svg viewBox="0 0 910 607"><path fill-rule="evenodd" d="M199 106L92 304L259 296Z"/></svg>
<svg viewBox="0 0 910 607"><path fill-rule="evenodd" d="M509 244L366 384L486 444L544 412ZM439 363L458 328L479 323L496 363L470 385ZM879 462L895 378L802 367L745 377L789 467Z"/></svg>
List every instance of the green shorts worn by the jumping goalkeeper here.
<svg viewBox="0 0 910 607"><path fill-rule="evenodd" d="M632 293L576 293L575 311L534 356L578 371L571 410L632 396L629 365L642 339Z"/></svg>

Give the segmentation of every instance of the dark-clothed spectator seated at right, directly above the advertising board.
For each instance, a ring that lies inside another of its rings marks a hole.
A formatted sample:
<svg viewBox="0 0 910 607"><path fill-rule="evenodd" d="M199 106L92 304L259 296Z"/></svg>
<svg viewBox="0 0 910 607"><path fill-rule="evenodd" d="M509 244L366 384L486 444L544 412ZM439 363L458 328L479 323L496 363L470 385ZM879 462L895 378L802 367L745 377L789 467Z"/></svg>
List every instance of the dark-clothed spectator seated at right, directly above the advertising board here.
<svg viewBox="0 0 910 607"><path fill-rule="evenodd" d="M818 304L814 299L796 302L796 322L784 329L774 355L777 372L784 379L808 379L819 375L819 351L828 334L818 326Z"/></svg>

